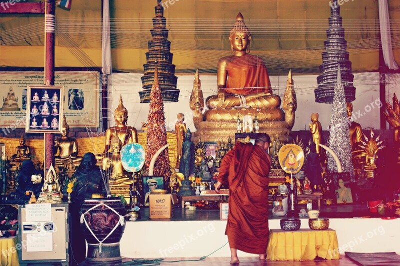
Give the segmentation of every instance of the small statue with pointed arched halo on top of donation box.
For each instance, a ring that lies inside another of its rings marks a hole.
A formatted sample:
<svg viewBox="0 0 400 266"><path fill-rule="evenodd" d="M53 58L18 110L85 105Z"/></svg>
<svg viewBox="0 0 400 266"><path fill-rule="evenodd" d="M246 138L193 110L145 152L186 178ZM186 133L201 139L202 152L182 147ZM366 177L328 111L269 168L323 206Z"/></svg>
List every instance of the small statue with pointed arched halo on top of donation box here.
<svg viewBox="0 0 400 266"><path fill-rule="evenodd" d="M58 185L58 176L52 165L48 169L47 175L44 178L44 184L41 188L37 203L59 203L62 202L62 195Z"/></svg>

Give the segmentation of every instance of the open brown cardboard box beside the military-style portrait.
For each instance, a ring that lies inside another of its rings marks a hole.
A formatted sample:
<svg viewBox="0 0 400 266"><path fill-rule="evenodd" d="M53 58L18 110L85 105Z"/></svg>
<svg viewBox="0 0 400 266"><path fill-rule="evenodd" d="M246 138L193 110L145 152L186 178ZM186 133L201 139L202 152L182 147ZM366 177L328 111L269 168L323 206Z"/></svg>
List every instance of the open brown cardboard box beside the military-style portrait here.
<svg viewBox="0 0 400 266"><path fill-rule="evenodd" d="M176 194L150 194L150 218L171 218L173 216L173 205L178 203Z"/></svg>

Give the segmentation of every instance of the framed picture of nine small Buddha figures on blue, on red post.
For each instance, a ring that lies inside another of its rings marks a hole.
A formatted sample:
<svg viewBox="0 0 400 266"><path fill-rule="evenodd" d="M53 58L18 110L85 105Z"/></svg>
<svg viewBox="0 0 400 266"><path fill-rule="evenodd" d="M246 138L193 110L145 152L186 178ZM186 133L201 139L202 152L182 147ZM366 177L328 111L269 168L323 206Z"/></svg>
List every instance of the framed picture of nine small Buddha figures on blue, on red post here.
<svg viewBox="0 0 400 266"><path fill-rule="evenodd" d="M26 90L27 133L61 133L63 86L28 86Z"/></svg>

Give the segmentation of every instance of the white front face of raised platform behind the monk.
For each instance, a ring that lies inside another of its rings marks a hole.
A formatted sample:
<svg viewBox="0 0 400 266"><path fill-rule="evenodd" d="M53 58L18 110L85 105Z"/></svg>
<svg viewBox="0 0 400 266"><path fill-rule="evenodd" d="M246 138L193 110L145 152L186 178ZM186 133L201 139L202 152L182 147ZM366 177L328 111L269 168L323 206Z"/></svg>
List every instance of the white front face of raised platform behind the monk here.
<svg viewBox="0 0 400 266"><path fill-rule="evenodd" d="M190 213L193 212L193 213ZM192 217L195 211L186 211ZM145 218L142 218L145 220ZM396 252L400 254L400 219L329 219L336 231L339 252ZM226 221L135 221L126 223L120 242L121 256L127 258L203 257L227 243ZM308 220L301 219L301 228ZM269 220L269 229L280 229L279 220ZM239 257L256 255L238 252ZM230 257L226 245L210 257Z"/></svg>

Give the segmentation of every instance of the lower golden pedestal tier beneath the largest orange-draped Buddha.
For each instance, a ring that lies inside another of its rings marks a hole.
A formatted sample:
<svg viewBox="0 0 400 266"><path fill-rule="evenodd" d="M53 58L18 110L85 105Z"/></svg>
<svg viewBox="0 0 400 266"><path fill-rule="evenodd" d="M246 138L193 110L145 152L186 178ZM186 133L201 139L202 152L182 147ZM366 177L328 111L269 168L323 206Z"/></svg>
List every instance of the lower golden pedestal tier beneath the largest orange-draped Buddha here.
<svg viewBox="0 0 400 266"><path fill-rule="evenodd" d="M258 118L258 116L257 116ZM267 133L270 137L279 135L281 140L286 140L290 129L285 121L263 121L259 122L259 132ZM192 141L216 142L218 139L233 139L236 132L236 121L202 121L196 126L196 132ZM234 141L234 140L233 140Z"/></svg>

